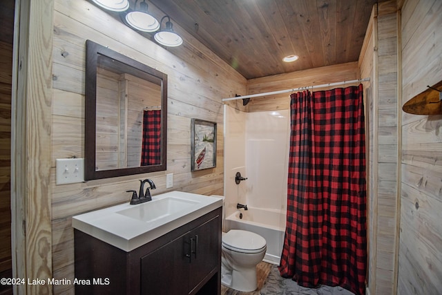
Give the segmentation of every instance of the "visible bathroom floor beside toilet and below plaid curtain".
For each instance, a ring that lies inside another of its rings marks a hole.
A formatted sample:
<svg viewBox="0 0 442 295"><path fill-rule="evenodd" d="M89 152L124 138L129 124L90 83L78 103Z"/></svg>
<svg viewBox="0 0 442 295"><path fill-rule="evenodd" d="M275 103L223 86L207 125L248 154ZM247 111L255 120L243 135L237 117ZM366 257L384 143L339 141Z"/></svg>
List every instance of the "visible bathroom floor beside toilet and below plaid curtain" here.
<svg viewBox="0 0 442 295"><path fill-rule="evenodd" d="M221 285L221 295L354 295L343 287L322 285L318 288L300 287L289 278L282 278L276 265L261 262L257 267L258 288L253 292L240 292Z"/></svg>

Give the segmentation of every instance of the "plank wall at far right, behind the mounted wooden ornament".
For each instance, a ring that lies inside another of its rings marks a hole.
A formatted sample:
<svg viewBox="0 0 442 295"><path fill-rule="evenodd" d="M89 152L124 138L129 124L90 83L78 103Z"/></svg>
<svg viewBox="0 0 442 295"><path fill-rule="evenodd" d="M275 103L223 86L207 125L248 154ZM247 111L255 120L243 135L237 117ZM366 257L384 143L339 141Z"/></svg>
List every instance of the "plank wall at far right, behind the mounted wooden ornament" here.
<svg viewBox="0 0 442 295"><path fill-rule="evenodd" d="M442 1L407 0L402 10L401 106L442 80ZM441 294L441 115L402 112L398 294Z"/></svg>

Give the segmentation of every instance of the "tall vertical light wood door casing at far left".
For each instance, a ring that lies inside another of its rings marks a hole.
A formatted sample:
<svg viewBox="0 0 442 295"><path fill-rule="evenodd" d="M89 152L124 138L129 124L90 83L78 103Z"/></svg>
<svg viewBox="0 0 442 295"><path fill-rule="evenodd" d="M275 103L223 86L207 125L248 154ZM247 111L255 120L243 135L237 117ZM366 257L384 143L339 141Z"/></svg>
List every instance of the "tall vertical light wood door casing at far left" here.
<svg viewBox="0 0 442 295"><path fill-rule="evenodd" d="M11 211L13 277L52 277L50 196L53 1L17 1L12 77ZM18 8L19 7L19 8ZM30 25L32 23L32 25ZM16 42L17 41L17 42ZM50 294L17 284L14 294Z"/></svg>

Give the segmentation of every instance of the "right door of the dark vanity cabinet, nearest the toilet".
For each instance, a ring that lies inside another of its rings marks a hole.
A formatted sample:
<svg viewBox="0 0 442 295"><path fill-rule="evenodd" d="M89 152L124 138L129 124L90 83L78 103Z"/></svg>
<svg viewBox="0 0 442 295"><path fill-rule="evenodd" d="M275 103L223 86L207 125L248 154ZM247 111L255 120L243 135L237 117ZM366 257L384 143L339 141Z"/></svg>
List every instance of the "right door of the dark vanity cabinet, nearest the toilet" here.
<svg viewBox="0 0 442 295"><path fill-rule="evenodd" d="M189 284L191 289L196 287L204 278L219 265L221 241L218 236L221 231L219 216L213 218L188 235L193 238L193 253L190 263Z"/></svg>

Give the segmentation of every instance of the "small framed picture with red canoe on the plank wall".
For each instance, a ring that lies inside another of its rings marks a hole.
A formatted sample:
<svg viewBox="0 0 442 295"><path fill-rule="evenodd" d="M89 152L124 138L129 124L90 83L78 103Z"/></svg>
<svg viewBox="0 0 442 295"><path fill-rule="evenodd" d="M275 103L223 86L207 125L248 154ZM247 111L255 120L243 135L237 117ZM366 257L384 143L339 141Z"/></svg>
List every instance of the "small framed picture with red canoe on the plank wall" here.
<svg viewBox="0 0 442 295"><path fill-rule="evenodd" d="M216 123L191 121L191 171L216 167Z"/></svg>

